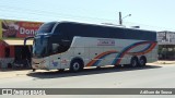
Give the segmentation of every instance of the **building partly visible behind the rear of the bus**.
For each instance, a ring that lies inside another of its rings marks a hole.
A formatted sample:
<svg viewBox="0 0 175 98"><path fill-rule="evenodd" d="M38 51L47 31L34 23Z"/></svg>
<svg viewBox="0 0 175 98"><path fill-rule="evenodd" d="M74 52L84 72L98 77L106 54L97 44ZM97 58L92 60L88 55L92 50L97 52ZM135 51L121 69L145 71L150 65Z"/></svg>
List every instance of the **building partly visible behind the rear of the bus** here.
<svg viewBox="0 0 175 98"><path fill-rule="evenodd" d="M175 32L158 32L159 59L175 60Z"/></svg>

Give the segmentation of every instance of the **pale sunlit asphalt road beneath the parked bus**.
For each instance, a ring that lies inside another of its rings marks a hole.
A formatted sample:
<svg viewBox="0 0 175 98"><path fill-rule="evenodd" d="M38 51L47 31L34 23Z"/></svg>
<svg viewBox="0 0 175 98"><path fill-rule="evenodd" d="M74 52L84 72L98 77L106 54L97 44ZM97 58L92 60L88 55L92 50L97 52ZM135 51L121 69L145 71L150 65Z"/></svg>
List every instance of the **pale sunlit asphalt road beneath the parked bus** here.
<svg viewBox="0 0 175 98"><path fill-rule="evenodd" d="M144 68L86 69L80 73L35 72L0 79L0 88L175 88L175 65L148 65ZM174 98L172 95L56 95L34 98ZM3 97L3 96L2 96ZM19 96L5 96L18 97ZM24 97L24 96L20 96ZM25 96L25 98L31 96ZM1 98L1 96L0 96Z"/></svg>

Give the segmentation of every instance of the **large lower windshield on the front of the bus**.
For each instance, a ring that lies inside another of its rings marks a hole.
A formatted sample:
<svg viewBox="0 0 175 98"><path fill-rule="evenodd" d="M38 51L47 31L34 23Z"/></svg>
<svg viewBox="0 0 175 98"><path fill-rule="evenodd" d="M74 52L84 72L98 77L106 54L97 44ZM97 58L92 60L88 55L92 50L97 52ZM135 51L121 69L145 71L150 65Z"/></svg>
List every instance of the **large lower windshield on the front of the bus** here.
<svg viewBox="0 0 175 98"><path fill-rule="evenodd" d="M33 46L33 57L42 58L47 56L48 37L35 38Z"/></svg>

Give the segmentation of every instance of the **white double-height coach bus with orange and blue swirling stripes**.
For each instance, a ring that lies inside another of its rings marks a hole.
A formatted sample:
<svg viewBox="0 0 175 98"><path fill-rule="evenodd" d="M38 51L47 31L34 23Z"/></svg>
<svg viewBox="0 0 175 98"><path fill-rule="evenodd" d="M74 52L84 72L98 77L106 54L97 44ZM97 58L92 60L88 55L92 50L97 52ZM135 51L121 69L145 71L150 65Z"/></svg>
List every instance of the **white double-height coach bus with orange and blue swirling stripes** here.
<svg viewBox="0 0 175 98"><path fill-rule="evenodd" d="M25 39L25 41L27 38ZM35 70L144 66L158 60L156 32L78 22L48 22L34 36Z"/></svg>

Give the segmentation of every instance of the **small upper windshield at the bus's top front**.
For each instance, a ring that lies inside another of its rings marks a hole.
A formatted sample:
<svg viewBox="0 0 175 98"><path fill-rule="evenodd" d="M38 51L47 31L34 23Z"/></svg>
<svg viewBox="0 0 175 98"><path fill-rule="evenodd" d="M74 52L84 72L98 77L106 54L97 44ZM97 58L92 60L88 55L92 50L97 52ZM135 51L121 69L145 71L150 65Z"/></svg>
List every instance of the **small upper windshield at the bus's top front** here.
<svg viewBox="0 0 175 98"><path fill-rule="evenodd" d="M55 24L56 24L56 22L43 24L43 25L39 27L37 34L51 33L52 27L55 26Z"/></svg>

